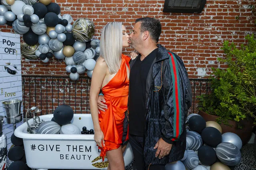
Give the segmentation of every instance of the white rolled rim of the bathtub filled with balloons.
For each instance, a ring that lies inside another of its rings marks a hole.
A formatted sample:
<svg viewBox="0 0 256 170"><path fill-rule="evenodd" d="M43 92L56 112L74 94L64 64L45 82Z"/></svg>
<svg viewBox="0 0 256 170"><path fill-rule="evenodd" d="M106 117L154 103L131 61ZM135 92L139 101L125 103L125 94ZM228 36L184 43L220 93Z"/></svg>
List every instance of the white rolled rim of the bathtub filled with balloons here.
<svg viewBox="0 0 256 170"><path fill-rule="evenodd" d="M53 114L41 115L40 119L51 120ZM74 114L74 118L77 117L91 117L91 114ZM33 119L28 120L28 123L31 125ZM23 132L28 127L27 123L23 123L14 130L14 135L18 138L26 139L40 139L40 140L94 140L94 134L29 134Z"/></svg>

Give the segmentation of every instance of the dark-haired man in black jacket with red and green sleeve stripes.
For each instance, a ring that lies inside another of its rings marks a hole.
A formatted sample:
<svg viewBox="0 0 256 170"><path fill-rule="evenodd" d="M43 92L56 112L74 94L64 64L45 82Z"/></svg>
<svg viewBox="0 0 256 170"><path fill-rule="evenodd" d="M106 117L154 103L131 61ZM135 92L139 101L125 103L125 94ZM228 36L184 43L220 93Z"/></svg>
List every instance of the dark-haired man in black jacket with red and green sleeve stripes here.
<svg viewBox="0 0 256 170"><path fill-rule="evenodd" d="M164 170L181 160L186 147L185 119L192 95L182 60L157 44L161 24L139 18L130 35L139 55L130 61L129 142L134 170ZM99 109L104 101L98 99Z"/></svg>

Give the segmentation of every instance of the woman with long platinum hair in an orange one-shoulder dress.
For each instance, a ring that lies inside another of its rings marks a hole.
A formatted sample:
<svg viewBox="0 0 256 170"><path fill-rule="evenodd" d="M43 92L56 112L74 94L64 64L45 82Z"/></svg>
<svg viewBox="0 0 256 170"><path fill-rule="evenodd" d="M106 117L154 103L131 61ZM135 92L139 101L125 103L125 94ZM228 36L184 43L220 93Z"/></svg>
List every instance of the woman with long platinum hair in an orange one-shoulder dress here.
<svg viewBox="0 0 256 170"><path fill-rule="evenodd" d="M100 57L93 69L90 89L94 140L101 149L103 161L107 156L108 170L125 169L120 146L123 143L123 122L128 103L130 57L122 54L123 47L129 47L125 26L121 22L108 23L101 33ZM105 112L97 107L100 90L108 106Z"/></svg>

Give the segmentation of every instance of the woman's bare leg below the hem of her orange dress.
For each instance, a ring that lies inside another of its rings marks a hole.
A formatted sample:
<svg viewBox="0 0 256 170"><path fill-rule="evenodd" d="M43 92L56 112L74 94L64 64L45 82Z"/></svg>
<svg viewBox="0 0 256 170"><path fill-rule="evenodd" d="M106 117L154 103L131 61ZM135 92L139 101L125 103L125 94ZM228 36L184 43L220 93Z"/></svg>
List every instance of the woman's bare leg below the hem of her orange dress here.
<svg viewBox="0 0 256 170"><path fill-rule="evenodd" d="M125 162L123 160L122 147L109 150L106 152L109 161L110 170L125 170Z"/></svg>

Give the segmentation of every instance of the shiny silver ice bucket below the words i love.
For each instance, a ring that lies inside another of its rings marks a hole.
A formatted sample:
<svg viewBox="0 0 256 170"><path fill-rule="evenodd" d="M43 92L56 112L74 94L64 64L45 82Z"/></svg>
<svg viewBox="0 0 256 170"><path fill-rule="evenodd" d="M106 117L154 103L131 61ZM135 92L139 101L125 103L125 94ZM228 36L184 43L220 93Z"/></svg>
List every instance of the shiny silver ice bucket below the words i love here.
<svg viewBox="0 0 256 170"><path fill-rule="evenodd" d="M20 109L22 100L10 100L10 101L3 101L2 102L4 109L5 109L5 116L6 117L17 117L20 115Z"/></svg>

